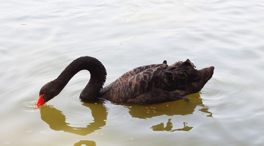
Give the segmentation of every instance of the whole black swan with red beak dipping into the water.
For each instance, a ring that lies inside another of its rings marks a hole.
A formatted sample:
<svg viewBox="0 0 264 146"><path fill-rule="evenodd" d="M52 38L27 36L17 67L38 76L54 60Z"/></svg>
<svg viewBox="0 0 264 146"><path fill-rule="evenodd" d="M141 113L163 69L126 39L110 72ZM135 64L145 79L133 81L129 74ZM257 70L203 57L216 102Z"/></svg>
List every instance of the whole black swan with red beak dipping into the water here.
<svg viewBox="0 0 264 146"><path fill-rule="evenodd" d="M90 80L80 94L81 100L103 98L115 103L154 104L187 99L186 95L203 88L214 69L212 66L196 70L189 59L170 66L164 60L162 64L137 67L103 88L107 75L105 67L96 58L84 56L73 60L58 78L41 88L37 106L57 96L81 70L90 72Z"/></svg>

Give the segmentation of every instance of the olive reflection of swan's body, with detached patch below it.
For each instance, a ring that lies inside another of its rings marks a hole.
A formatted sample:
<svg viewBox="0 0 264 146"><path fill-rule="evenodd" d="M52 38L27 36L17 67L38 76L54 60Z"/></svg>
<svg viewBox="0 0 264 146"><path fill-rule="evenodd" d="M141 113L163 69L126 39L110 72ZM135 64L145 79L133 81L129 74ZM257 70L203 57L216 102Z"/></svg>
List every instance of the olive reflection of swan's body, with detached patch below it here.
<svg viewBox="0 0 264 146"><path fill-rule="evenodd" d="M152 118L154 116L160 116L160 115L187 115L187 114L193 114L197 106L202 107L199 111L203 113L208 113L207 117L213 117L212 113L208 111L209 109L202 104L202 99L200 98L199 93L188 95L188 98L190 100L184 101L179 100L176 102L167 102L167 103L161 103L161 104L155 104L155 105L133 105L132 107L129 107L129 105L125 105L128 109L130 109L129 113L132 117L140 118L140 119L146 119L146 118ZM155 125L151 127L154 131L189 131L193 127L188 127L187 122L183 123L183 128L180 129L174 129L173 124L171 122L171 119L168 120L166 127L164 127L164 123L160 123L158 125Z"/></svg>

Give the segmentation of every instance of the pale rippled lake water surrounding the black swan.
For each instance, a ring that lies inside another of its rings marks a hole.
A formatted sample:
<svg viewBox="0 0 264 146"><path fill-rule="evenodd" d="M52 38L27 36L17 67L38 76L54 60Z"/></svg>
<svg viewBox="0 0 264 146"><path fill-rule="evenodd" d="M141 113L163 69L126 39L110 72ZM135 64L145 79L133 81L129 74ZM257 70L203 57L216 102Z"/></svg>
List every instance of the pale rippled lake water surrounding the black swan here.
<svg viewBox="0 0 264 146"><path fill-rule="evenodd" d="M263 0L1 0L0 145L264 146ZM215 66L189 102L82 103L81 71L35 108L40 88L93 56L109 85L142 65Z"/></svg>

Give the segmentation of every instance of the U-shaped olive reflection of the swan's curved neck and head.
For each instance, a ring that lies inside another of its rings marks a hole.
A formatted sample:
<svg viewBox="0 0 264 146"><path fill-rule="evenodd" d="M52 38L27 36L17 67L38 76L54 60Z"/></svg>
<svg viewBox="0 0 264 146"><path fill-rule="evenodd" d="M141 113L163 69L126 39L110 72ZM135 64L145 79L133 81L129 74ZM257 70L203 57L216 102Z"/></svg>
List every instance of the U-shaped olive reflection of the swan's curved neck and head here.
<svg viewBox="0 0 264 146"><path fill-rule="evenodd" d="M94 118L94 122L89 123L86 128L76 128L68 126L69 123L66 123L66 117L62 113L62 111L50 106L41 109L41 119L46 122L53 130L63 130L65 132L78 135L87 135L106 125L107 109L103 103L85 103L84 106L90 108L91 114Z"/></svg>

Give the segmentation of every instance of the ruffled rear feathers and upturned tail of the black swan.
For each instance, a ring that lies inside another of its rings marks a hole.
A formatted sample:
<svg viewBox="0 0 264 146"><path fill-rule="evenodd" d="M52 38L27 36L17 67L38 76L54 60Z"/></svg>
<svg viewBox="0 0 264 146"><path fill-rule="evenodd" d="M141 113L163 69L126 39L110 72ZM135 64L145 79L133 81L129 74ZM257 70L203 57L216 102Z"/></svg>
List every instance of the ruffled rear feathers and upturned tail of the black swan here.
<svg viewBox="0 0 264 146"><path fill-rule="evenodd" d="M214 67L208 67L201 70L195 69L194 64L187 59L186 61L176 62L168 67L164 72L164 83L166 91L181 90L184 96L200 91L203 86L211 79L214 73Z"/></svg>

